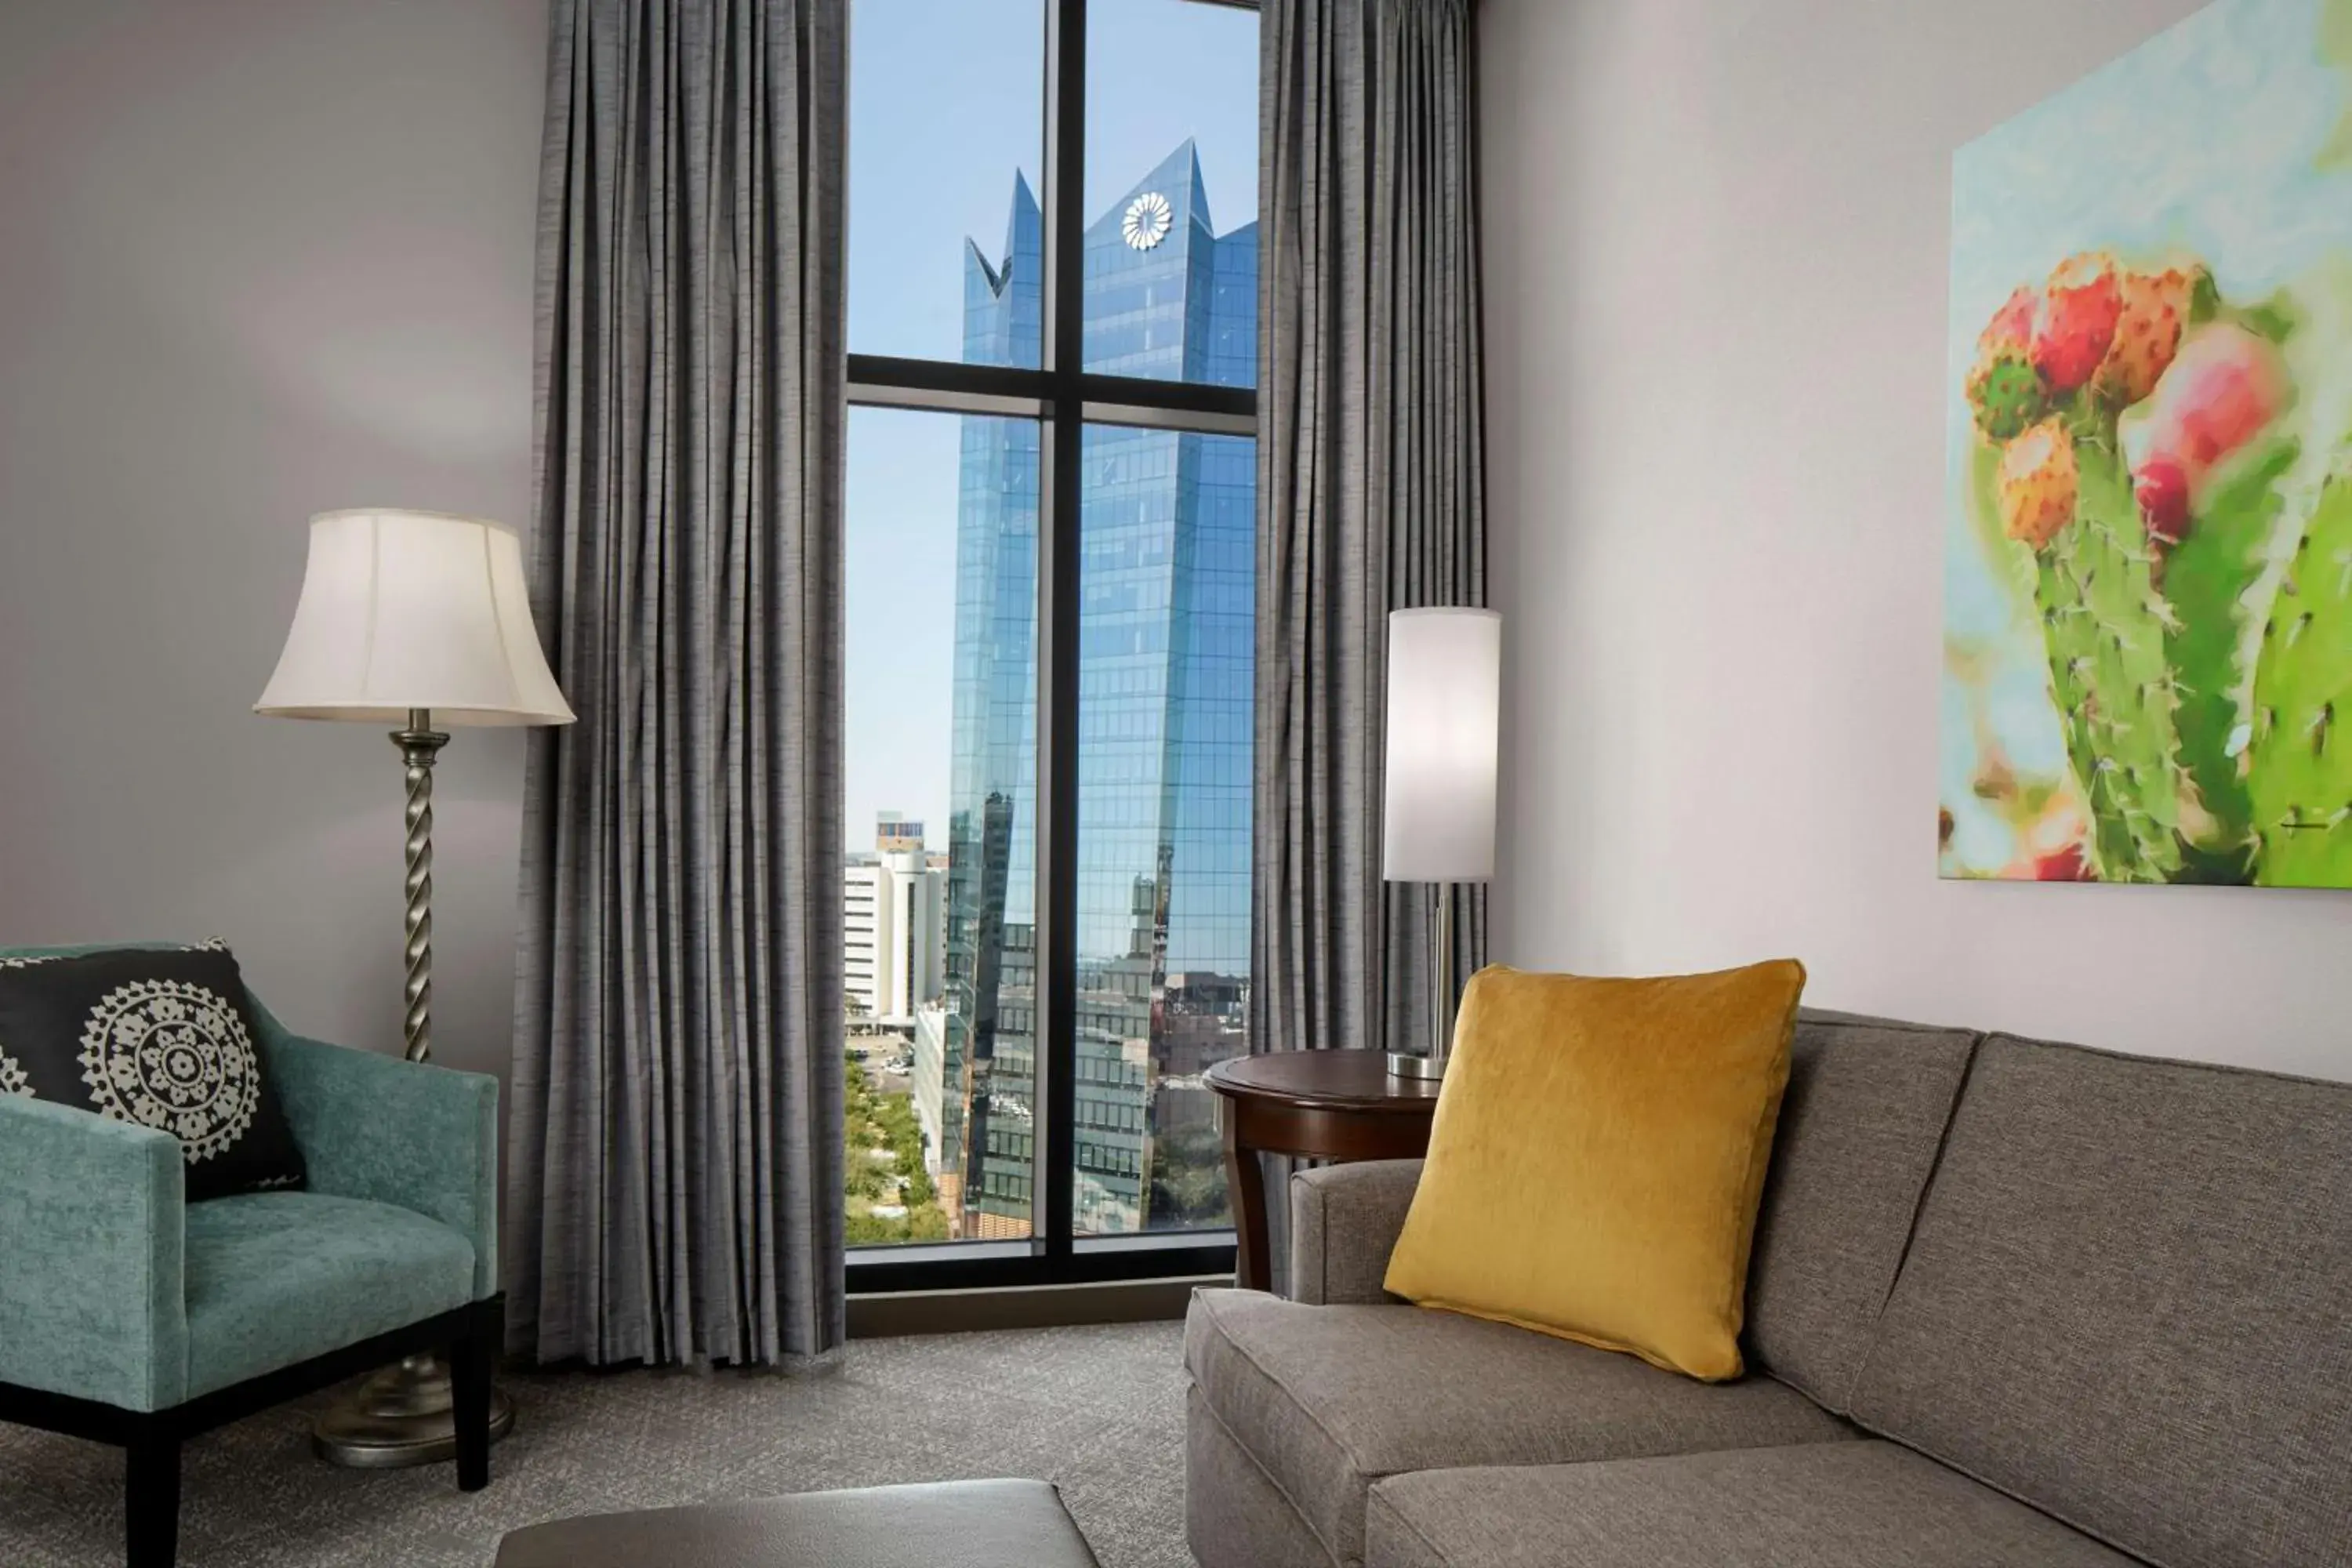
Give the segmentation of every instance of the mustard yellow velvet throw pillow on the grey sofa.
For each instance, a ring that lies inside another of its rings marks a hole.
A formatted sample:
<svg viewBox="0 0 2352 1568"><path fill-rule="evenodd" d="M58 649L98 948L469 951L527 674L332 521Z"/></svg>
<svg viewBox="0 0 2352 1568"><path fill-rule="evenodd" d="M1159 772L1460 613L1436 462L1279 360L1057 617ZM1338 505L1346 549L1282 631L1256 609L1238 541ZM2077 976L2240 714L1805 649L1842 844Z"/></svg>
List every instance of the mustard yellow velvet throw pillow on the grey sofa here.
<svg viewBox="0 0 2352 1568"><path fill-rule="evenodd" d="M1388 1288L1740 1375L1748 1246L1804 964L1470 978Z"/></svg>

